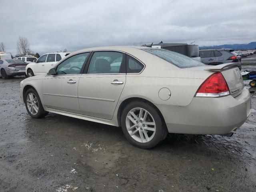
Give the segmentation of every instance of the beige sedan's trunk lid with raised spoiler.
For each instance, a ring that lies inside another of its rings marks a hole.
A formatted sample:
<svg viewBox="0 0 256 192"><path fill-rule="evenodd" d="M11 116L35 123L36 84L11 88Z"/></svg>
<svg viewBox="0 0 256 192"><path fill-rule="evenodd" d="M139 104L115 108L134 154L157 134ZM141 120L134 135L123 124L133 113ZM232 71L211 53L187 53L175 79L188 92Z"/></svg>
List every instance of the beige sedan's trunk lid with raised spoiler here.
<svg viewBox="0 0 256 192"><path fill-rule="evenodd" d="M237 65L238 63L226 63L210 66L204 70L221 72L228 84L230 94L233 97L236 97L242 92L244 88L243 78Z"/></svg>

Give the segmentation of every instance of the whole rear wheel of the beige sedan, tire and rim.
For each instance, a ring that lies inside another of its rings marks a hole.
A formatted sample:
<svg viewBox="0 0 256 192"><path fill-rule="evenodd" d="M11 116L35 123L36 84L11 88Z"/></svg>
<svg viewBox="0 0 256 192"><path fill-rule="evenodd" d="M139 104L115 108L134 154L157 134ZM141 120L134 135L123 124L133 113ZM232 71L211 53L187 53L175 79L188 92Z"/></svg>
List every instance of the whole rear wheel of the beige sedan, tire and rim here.
<svg viewBox="0 0 256 192"><path fill-rule="evenodd" d="M144 149L156 146L168 133L158 110L146 102L128 104L122 112L121 124L126 139Z"/></svg>

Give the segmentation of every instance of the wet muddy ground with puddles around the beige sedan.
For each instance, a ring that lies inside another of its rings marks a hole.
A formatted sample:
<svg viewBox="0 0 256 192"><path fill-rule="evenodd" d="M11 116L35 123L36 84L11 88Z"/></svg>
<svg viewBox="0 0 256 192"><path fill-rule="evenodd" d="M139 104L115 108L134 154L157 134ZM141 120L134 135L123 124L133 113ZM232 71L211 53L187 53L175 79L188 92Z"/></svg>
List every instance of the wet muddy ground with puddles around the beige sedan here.
<svg viewBox="0 0 256 192"><path fill-rule="evenodd" d="M256 191L255 93L232 137L170 134L142 150L118 127L52 113L32 119L22 79L0 78L0 192Z"/></svg>

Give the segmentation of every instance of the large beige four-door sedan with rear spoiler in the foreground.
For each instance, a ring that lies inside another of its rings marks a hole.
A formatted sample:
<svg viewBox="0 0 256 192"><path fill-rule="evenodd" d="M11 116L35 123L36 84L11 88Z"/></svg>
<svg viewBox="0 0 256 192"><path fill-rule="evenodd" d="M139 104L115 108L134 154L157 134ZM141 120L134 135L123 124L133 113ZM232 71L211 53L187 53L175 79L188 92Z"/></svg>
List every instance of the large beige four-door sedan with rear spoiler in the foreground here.
<svg viewBox="0 0 256 192"><path fill-rule="evenodd" d="M33 118L53 112L122 126L140 148L154 147L168 132L229 134L251 112L236 63L208 66L157 48L79 50L20 86Z"/></svg>

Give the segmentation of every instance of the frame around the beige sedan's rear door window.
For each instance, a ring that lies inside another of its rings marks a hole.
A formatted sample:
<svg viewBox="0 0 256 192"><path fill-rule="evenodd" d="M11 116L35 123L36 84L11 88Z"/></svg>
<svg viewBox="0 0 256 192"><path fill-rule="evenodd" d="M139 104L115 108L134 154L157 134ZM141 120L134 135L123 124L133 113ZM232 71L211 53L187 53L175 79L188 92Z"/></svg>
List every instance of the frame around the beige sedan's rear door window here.
<svg viewBox="0 0 256 192"><path fill-rule="evenodd" d="M87 62L86 62L86 66L84 68L84 71L82 74L88 74L88 68L89 68L89 64L90 64L90 61L92 59L92 56L95 52L118 52L118 53L122 53L124 54L124 57L122 59L122 63L121 63L121 66L120 66L120 72L119 73L102 73L102 74L126 74L126 53L125 52L122 52L122 51L118 51L118 50L95 50L95 51L92 51ZM90 74L90 75L102 75L102 74Z"/></svg>

